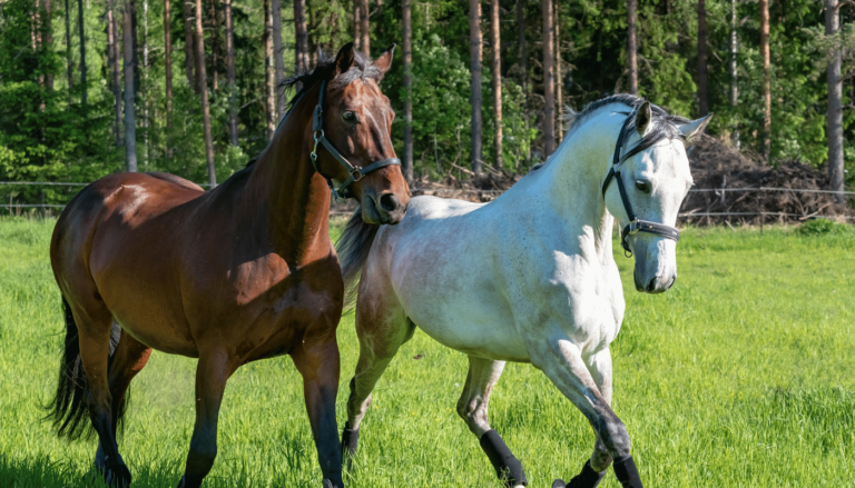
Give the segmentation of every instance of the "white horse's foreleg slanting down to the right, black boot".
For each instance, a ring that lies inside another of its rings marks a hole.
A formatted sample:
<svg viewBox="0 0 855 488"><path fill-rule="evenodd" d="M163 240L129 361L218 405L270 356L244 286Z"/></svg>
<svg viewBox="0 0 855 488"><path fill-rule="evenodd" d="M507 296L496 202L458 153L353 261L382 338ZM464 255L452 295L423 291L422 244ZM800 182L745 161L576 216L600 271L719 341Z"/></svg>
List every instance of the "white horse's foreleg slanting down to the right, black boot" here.
<svg viewBox="0 0 855 488"><path fill-rule="evenodd" d="M580 349L568 340L551 341L533 353L532 358L538 358L535 366L588 418L607 454L613 459L615 475L623 488L642 488L636 464L630 455L631 442L627 428L600 392L597 381L582 359ZM605 366L605 362L601 366ZM610 361L608 366L610 371ZM610 378L609 375L608 379ZM602 379L605 380L606 377L603 376ZM602 461L601 458L599 460ZM588 464L577 478L580 479L574 478L576 484L564 485L563 481L557 480L552 486L553 488L563 486L592 488L599 484L602 475Z"/></svg>

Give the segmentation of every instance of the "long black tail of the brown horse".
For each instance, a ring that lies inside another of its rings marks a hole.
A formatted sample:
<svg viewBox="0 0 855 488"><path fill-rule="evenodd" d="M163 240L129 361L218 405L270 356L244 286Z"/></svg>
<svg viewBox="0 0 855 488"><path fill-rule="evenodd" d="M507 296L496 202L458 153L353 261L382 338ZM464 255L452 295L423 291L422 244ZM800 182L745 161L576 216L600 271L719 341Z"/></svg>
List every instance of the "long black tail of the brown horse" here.
<svg viewBox="0 0 855 488"><path fill-rule="evenodd" d="M43 408L48 411L46 420L53 424L58 437L66 437L75 440L81 436L91 437L95 429L89 421L89 411L86 405L86 397L89 395L89 384L83 372L83 365L80 360L80 340L77 335L77 323L71 313L71 307L66 297L62 297L62 312L66 318L66 340L62 348L62 361L59 365L59 381L57 392L48 405ZM112 322L110 330L110 359L119 345L121 328ZM121 420L125 415L127 402L119 399L121 404L114 411Z"/></svg>

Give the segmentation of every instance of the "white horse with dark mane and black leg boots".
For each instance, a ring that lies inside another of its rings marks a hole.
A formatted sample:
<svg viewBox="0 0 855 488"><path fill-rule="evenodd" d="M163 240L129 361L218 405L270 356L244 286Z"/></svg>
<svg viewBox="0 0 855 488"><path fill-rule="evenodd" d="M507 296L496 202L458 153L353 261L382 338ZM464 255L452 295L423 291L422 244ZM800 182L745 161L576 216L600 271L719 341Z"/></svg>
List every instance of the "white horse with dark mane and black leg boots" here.
<svg viewBox="0 0 855 488"><path fill-rule="evenodd" d="M597 437L581 474L553 488L596 487L612 462L623 487L641 487L629 435L610 407L609 345L625 308L612 222L635 255L636 288L670 288L672 226L692 185L685 146L709 118L688 121L618 94L569 119L556 153L491 203L417 197L395 227L363 225L358 211L348 222L340 241L345 282L362 269L360 360L342 439L351 455L374 385L417 326L469 355L458 414L507 486L528 481L487 408L504 362L518 361L543 371Z"/></svg>

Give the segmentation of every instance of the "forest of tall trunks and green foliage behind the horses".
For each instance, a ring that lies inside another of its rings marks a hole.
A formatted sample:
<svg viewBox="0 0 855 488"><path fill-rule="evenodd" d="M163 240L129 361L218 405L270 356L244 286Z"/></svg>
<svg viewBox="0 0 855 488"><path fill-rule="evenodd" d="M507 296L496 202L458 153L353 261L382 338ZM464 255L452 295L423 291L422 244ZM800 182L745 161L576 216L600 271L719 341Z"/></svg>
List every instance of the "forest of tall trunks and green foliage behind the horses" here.
<svg viewBox="0 0 855 488"><path fill-rule="evenodd" d="M223 181L266 147L293 94L278 83L355 40L374 57L399 44L382 88L411 178L524 172L560 142L563 107L633 92L715 112L715 137L843 190L853 19L837 0L0 0L0 180Z"/></svg>

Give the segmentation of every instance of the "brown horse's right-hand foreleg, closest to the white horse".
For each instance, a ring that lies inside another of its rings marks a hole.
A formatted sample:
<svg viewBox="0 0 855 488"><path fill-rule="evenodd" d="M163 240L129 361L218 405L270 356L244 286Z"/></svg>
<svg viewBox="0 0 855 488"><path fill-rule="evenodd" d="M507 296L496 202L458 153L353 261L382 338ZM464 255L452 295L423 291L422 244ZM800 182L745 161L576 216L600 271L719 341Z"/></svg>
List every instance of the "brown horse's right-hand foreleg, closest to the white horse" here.
<svg viewBox="0 0 855 488"><path fill-rule="evenodd" d="M335 328L323 339L304 341L292 352L294 365L303 376L303 395L308 421L315 438L317 459L324 475L324 488L343 488L342 451L335 421L335 397L338 392L338 343Z"/></svg>

